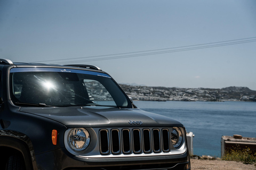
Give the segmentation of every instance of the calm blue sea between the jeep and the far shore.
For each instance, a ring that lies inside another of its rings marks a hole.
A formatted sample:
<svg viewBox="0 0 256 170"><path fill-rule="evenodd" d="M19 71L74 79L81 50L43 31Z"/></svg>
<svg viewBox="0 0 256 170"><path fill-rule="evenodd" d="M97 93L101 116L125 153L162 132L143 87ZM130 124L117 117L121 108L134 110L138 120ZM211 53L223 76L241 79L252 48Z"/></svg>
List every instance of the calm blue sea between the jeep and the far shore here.
<svg viewBox="0 0 256 170"><path fill-rule="evenodd" d="M256 138L256 102L134 101L140 109L181 122L193 132L194 155L220 157L222 135Z"/></svg>

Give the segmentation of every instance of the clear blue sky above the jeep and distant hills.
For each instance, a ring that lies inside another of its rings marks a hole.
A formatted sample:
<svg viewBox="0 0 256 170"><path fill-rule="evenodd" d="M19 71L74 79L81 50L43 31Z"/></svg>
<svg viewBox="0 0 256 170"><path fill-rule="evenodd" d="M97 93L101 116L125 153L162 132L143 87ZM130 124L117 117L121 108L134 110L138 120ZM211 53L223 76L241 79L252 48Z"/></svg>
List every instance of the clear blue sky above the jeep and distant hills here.
<svg viewBox="0 0 256 170"><path fill-rule="evenodd" d="M119 54L251 37L256 37L255 0L0 0L1 58L97 65L118 83L256 90L255 41L157 55ZM151 52L157 51L143 54ZM119 58L85 58L109 54Z"/></svg>

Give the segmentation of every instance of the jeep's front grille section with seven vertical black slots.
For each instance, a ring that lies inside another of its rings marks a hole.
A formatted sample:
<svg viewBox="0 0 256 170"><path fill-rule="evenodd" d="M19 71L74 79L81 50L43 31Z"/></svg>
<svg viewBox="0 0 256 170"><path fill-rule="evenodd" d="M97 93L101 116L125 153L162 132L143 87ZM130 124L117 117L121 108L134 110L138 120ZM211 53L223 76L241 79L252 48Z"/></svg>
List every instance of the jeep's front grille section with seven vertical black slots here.
<svg viewBox="0 0 256 170"><path fill-rule="evenodd" d="M150 154L170 152L167 128L100 129L100 154Z"/></svg>

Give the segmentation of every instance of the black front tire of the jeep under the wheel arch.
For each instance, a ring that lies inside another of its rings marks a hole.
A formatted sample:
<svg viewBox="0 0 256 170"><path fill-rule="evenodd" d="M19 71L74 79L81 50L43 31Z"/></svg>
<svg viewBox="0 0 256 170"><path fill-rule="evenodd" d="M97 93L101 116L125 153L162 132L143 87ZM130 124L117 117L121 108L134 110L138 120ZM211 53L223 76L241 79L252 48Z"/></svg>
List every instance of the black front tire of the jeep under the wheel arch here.
<svg viewBox="0 0 256 170"><path fill-rule="evenodd" d="M20 155L12 155L8 158L6 170L26 170L23 158Z"/></svg>

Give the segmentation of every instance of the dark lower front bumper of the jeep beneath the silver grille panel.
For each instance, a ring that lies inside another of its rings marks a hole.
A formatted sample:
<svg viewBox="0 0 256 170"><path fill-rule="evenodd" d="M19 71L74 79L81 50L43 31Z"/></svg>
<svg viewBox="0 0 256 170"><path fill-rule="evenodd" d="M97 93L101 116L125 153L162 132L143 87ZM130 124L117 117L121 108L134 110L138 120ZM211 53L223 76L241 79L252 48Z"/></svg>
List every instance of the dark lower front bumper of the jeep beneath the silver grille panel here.
<svg viewBox="0 0 256 170"><path fill-rule="evenodd" d="M190 169L188 151L169 156L84 158L71 155L61 148L38 154L35 161L37 167L34 169Z"/></svg>

